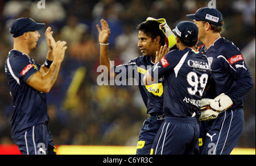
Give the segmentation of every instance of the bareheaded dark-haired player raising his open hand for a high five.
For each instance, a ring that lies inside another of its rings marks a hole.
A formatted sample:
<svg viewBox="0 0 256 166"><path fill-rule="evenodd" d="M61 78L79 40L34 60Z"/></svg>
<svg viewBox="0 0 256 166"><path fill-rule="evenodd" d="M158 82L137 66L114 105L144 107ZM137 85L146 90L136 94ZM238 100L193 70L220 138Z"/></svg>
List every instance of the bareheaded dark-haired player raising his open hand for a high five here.
<svg viewBox="0 0 256 166"><path fill-rule="evenodd" d="M147 18L145 22L139 24L137 27L139 38L138 47L143 56L130 60L127 64L118 65L115 67L110 64L108 55L108 39L110 35L108 23L102 19L101 28L99 25L97 25L97 28L100 34L99 42L101 65L108 67L109 73L114 70L114 77L118 77L119 73L123 73L125 74L126 78L138 78L137 81L139 83L139 90L141 92L144 104L147 107L147 114L150 114L151 117L144 121L143 127L139 132L137 154L149 155L156 132L164 119L162 113L163 84L162 79L159 79L159 81L152 86L145 86L141 84L141 82L143 82L143 77L146 73L147 66L152 67L155 63L156 51L159 51L160 47L166 44L165 50L168 52L169 49L175 45L175 35L172 33L170 27L168 27L165 19ZM123 68L126 70L123 71ZM131 69L134 68L135 70L131 71ZM108 76L110 75L111 74Z"/></svg>

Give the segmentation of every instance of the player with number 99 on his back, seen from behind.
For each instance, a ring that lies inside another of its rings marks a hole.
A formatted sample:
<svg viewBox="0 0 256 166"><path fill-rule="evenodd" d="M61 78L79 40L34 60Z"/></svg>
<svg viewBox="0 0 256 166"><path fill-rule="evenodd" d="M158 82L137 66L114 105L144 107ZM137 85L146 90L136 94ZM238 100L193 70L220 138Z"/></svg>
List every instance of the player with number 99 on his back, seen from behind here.
<svg viewBox="0 0 256 166"><path fill-rule="evenodd" d="M155 73L164 78L165 119L156 135L153 154L192 155L198 146L197 117L210 66L207 57L195 48L199 30L194 23L180 22L173 31L178 49L168 52L143 79L148 85L157 81Z"/></svg>

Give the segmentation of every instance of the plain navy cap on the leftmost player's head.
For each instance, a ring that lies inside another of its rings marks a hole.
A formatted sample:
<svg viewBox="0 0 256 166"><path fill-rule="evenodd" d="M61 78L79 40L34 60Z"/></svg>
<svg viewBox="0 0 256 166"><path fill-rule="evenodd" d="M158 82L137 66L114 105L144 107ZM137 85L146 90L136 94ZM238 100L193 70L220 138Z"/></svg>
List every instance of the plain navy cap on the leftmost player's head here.
<svg viewBox="0 0 256 166"><path fill-rule="evenodd" d="M17 38L25 32L41 30L44 25L44 23L36 23L31 18L19 18L11 24L9 31L14 38Z"/></svg>

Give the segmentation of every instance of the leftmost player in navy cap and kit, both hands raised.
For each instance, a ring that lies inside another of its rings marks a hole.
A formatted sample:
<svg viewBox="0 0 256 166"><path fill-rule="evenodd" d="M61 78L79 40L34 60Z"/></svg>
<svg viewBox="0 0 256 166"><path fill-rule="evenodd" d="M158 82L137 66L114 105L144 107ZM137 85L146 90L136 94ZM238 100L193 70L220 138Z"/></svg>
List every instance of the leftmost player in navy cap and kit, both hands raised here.
<svg viewBox="0 0 256 166"><path fill-rule="evenodd" d="M14 49L7 56L5 70L13 99L11 135L20 152L27 155L56 154L51 132L46 93L57 79L64 59L66 42L55 42L51 27L45 33L49 46L46 62L41 66L30 57L40 38L43 23L30 18L16 19L10 27Z"/></svg>

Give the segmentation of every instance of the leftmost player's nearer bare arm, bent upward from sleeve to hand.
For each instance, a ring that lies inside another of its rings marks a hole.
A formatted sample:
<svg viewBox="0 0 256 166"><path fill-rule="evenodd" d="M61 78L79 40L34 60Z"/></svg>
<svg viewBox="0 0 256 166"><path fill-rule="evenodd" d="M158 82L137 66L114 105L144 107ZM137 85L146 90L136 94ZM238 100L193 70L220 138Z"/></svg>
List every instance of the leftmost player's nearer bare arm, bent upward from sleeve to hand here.
<svg viewBox="0 0 256 166"><path fill-rule="evenodd" d="M32 74L26 81L26 83L32 86L39 92L48 93L55 83L59 74L61 62L64 59L65 50L67 46L64 46L66 42L57 42L52 49L52 55L54 58L51 67L47 73L42 73L41 70Z"/></svg>

